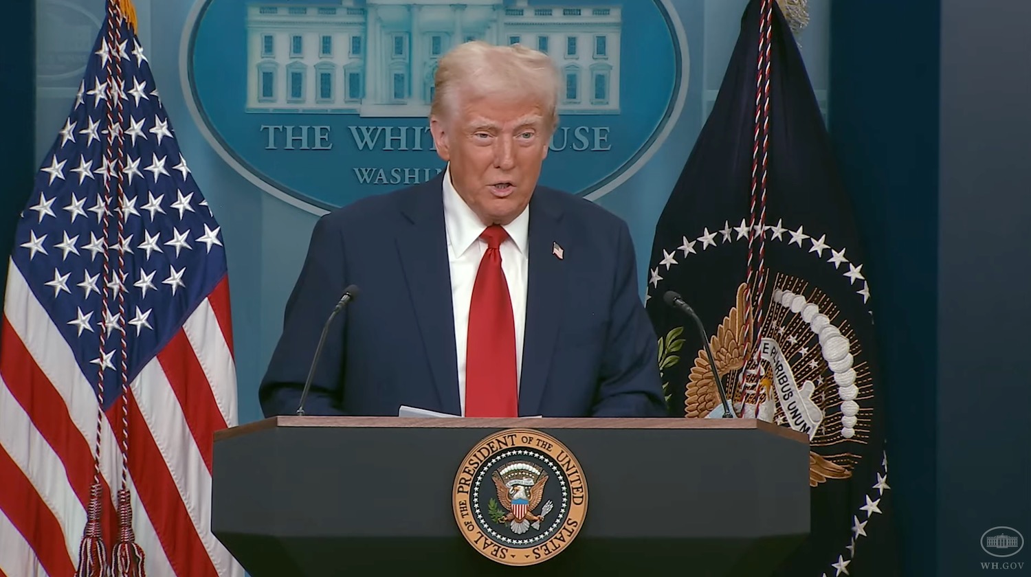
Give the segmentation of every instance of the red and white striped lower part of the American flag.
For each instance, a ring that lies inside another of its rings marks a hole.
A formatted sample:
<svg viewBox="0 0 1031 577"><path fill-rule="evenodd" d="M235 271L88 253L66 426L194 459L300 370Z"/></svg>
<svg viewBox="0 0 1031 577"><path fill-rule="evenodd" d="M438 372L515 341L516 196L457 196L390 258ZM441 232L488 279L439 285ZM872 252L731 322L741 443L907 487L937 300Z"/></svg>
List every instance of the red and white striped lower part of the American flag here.
<svg viewBox="0 0 1031 577"><path fill-rule="evenodd" d="M126 488L149 576L243 574L209 529L212 434L236 425L228 319L223 279L127 388L128 410L120 400L100 411L104 541L114 542L128 414ZM97 398L13 265L0 339L0 575L69 577L93 483Z"/></svg>

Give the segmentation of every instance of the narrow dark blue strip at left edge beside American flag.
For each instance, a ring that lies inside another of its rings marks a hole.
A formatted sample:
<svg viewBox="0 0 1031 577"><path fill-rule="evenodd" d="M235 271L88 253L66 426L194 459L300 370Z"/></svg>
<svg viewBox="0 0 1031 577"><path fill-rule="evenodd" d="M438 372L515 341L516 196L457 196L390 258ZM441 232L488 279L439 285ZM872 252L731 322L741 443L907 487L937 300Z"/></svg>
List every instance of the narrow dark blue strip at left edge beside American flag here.
<svg viewBox="0 0 1031 577"><path fill-rule="evenodd" d="M0 305L7 285L7 259L14 242L14 227L32 193L36 160L33 135L36 120L36 22L34 1L5 2L0 33Z"/></svg>

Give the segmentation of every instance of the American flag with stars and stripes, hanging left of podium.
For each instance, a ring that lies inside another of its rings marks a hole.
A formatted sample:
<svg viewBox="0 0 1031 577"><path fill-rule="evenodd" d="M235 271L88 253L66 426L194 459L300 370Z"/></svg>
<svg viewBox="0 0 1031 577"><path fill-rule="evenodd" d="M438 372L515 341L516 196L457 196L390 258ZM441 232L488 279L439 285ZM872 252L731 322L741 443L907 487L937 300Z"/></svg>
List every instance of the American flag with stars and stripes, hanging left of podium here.
<svg viewBox="0 0 1031 577"><path fill-rule="evenodd" d="M242 575L210 532L212 433L236 425L222 232L129 0L106 9L8 264L0 576L112 567L127 542L152 577Z"/></svg>

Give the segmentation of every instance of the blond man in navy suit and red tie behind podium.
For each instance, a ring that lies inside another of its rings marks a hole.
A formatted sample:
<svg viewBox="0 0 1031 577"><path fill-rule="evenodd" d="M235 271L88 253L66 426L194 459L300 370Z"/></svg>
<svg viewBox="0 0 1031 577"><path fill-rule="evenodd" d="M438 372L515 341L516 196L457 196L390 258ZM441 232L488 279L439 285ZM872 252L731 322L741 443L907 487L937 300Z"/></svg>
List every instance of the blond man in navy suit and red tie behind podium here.
<svg viewBox="0 0 1031 577"><path fill-rule="evenodd" d="M655 333L625 223L537 185L558 72L523 46L440 60L430 128L447 168L314 227L259 396L296 412L344 287L306 414L663 416Z"/></svg>

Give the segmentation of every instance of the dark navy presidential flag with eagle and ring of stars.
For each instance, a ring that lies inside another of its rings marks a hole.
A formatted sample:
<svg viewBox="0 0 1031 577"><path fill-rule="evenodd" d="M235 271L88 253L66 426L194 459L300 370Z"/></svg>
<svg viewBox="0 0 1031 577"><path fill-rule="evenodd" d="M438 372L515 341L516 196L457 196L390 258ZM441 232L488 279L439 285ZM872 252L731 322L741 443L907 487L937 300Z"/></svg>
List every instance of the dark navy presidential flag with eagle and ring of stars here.
<svg viewBox="0 0 1031 577"><path fill-rule="evenodd" d="M810 534L776 574L897 575L875 284L785 18L802 15L804 2L783 3L747 4L656 227L646 307L673 415L723 410L697 331L665 304L667 291L708 332L735 416L809 438Z"/></svg>

